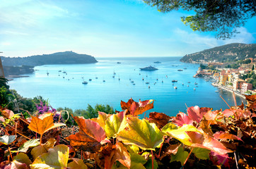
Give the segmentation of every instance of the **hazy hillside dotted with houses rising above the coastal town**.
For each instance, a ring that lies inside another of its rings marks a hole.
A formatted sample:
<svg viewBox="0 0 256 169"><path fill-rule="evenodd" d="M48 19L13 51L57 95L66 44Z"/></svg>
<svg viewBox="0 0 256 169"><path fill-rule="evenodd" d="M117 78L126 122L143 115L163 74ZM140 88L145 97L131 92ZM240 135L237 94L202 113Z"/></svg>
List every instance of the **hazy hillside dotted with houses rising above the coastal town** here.
<svg viewBox="0 0 256 169"><path fill-rule="evenodd" d="M226 44L217 46L204 51L199 51L194 54L187 54L183 56L180 61L191 63L192 61L239 61L245 58L255 58L256 44Z"/></svg>

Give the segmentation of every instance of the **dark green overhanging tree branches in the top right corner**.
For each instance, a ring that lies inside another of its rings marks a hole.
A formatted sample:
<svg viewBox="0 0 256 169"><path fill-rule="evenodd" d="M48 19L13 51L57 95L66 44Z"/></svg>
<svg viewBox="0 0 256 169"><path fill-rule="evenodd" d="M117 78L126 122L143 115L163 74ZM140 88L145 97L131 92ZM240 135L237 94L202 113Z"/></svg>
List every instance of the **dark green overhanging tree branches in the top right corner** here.
<svg viewBox="0 0 256 169"><path fill-rule="evenodd" d="M216 37L226 39L238 33L237 27L245 25L248 18L256 15L256 2L244 0L144 0L163 13L183 9L194 15L181 18L185 25L200 32L216 32Z"/></svg>

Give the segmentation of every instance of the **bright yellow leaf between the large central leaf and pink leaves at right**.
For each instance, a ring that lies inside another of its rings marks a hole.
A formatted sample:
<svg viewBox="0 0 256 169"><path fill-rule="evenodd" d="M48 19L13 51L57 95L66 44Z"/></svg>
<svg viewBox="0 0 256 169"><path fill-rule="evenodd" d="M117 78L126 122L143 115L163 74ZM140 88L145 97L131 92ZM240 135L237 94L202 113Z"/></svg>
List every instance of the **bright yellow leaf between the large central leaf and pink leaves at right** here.
<svg viewBox="0 0 256 169"><path fill-rule="evenodd" d="M178 139L180 142L187 146L191 146L193 144L190 136L186 132L199 132L201 133L196 127L192 125L183 125L182 127L178 128L177 130L173 129L173 125L170 128L165 128L165 134L170 137L174 137Z"/></svg>

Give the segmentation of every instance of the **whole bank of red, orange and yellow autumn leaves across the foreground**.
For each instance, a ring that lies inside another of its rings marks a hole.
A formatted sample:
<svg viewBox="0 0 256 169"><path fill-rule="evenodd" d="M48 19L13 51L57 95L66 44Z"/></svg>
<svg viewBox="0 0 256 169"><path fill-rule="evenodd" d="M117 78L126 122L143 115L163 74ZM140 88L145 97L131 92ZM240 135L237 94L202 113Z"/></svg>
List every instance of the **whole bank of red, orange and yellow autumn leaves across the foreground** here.
<svg viewBox="0 0 256 169"><path fill-rule="evenodd" d="M1 168L255 168L256 96L224 111L192 106L170 117L153 100L121 101L122 111L75 116L76 127L52 113L13 118L1 109ZM62 137L64 130L71 134Z"/></svg>

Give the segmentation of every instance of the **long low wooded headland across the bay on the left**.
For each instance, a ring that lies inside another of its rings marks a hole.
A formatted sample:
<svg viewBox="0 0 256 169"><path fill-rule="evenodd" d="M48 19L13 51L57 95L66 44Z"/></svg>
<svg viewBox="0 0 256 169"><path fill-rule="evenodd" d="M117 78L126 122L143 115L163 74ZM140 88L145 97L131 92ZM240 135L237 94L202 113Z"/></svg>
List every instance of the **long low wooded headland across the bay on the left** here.
<svg viewBox="0 0 256 169"><path fill-rule="evenodd" d="M20 65L55 65L55 64L83 64L96 63L93 56L86 54L76 54L73 51L64 51L54 54L43 54L28 57L10 58L1 56L4 66L20 66Z"/></svg>

